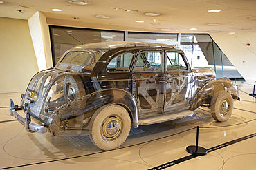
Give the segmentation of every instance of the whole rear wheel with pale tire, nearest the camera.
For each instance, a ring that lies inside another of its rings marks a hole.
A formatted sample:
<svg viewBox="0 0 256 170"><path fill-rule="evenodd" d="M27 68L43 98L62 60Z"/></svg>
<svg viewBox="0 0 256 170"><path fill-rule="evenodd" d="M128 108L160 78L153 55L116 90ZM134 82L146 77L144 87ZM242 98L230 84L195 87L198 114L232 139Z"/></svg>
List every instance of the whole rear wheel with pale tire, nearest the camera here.
<svg viewBox="0 0 256 170"><path fill-rule="evenodd" d="M129 136L130 129L130 116L127 110L120 105L100 107L95 111L89 123L91 141L105 151L120 147Z"/></svg>

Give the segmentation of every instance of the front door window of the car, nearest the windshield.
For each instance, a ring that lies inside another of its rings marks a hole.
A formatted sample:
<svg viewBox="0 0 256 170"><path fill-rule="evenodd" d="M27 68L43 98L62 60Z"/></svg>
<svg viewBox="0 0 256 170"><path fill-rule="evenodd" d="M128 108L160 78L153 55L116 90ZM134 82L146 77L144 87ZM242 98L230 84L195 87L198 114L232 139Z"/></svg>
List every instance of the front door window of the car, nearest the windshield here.
<svg viewBox="0 0 256 170"><path fill-rule="evenodd" d="M174 71L174 70L188 69L181 54L176 53L176 52L167 52L166 53L166 66L167 66L167 72Z"/></svg>

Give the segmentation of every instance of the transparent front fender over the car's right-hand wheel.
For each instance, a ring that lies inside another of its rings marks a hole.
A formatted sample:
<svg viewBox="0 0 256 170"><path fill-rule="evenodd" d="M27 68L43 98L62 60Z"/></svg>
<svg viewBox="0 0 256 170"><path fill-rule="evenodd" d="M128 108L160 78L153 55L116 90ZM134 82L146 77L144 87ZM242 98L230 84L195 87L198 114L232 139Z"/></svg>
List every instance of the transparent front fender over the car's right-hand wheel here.
<svg viewBox="0 0 256 170"><path fill-rule="evenodd" d="M190 109L194 110L203 104L209 104L212 100L213 94L226 91L229 92L234 100L239 100L237 86L232 83L228 78L219 78L218 80L212 79L197 90L194 97L192 98L192 103Z"/></svg>

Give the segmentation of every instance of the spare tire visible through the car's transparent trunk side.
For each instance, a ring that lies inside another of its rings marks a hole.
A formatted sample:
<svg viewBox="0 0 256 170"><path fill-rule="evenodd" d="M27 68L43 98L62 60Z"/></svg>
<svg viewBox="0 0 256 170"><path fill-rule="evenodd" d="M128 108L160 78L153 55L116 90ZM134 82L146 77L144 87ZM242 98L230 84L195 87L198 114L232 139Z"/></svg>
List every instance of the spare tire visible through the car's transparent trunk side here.
<svg viewBox="0 0 256 170"><path fill-rule="evenodd" d="M64 97L66 102L86 95L84 84L79 76L66 76L64 79Z"/></svg>

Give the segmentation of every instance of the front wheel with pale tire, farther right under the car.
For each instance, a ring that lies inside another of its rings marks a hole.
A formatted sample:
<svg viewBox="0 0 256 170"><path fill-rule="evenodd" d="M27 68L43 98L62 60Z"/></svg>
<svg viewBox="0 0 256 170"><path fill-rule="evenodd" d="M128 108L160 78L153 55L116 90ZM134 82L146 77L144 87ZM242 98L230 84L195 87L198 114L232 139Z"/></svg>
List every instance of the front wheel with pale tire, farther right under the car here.
<svg viewBox="0 0 256 170"><path fill-rule="evenodd" d="M226 91L218 92L213 95L211 101L212 118L219 122L223 122L230 118L233 111L233 98Z"/></svg>

